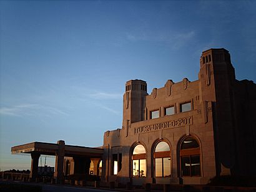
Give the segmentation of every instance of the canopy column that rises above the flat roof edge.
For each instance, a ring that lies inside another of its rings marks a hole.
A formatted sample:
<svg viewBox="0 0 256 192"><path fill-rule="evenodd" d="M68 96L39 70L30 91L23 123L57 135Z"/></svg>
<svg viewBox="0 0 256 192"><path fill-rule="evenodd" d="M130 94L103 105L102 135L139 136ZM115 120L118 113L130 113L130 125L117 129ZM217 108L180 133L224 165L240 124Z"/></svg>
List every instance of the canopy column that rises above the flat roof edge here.
<svg viewBox="0 0 256 192"><path fill-rule="evenodd" d="M57 142L59 145L59 150L56 153L56 160L55 160L55 171L54 171L54 178L56 179L56 183L62 184L64 183L64 156L65 156L65 142L59 140Z"/></svg>

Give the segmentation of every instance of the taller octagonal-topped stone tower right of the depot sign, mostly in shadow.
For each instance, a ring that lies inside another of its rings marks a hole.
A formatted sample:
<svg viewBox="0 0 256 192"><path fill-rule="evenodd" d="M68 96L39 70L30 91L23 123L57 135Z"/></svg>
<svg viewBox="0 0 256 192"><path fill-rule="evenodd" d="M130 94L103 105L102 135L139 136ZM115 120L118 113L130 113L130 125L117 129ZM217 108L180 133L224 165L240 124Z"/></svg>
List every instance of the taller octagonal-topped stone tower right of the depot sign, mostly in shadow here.
<svg viewBox="0 0 256 192"><path fill-rule="evenodd" d="M200 57L200 102L205 113L212 102L217 175L229 174L235 166L234 84L235 70L225 49L209 49Z"/></svg>

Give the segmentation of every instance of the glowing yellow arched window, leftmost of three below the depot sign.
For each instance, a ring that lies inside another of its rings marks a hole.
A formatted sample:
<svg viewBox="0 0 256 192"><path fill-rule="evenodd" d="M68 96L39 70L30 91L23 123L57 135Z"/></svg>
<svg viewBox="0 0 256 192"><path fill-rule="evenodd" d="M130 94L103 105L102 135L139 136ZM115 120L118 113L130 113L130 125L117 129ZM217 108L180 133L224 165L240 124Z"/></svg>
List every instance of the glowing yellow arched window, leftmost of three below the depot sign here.
<svg viewBox="0 0 256 192"><path fill-rule="evenodd" d="M145 177L147 175L145 148L143 145L136 145L132 153L132 176Z"/></svg>

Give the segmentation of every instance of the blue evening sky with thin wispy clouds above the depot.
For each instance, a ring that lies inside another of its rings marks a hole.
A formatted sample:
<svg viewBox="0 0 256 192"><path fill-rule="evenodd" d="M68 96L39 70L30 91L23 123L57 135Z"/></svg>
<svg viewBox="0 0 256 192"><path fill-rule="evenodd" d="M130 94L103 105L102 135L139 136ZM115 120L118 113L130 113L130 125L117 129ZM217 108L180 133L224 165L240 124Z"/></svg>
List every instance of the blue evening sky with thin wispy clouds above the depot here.
<svg viewBox="0 0 256 192"><path fill-rule="evenodd" d="M127 80L197 80L204 50L256 82L255 21L256 1L0 1L0 170L31 166L11 146L102 146Z"/></svg>

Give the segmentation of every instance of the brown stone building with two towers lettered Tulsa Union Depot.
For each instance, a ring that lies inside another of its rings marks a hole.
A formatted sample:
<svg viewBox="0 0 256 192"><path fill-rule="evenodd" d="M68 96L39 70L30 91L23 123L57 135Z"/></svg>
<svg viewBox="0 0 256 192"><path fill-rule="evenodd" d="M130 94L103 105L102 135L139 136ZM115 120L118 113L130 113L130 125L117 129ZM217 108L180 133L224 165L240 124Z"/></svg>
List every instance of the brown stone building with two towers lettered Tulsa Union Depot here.
<svg viewBox="0 0 256 192"><path fill-rule="evenodd" d="M149 95L144 80L129 80L123 106L122 128L104 133L103 154L87 159L86 174L133 185L255 175L256 84L235 79L228 50L202 52L194 82L167 80ZM64 175L76 174L74 158L65 154Z"/></svg>

